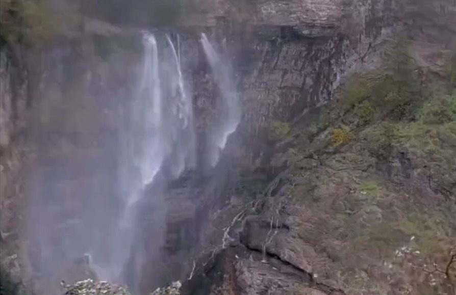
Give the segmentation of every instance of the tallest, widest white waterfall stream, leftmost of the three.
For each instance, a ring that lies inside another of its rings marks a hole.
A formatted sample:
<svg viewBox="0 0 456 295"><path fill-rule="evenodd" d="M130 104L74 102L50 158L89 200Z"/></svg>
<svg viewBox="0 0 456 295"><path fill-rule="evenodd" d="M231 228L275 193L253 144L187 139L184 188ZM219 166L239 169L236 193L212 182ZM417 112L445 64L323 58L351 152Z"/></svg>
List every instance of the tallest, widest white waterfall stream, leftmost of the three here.
<svg viewBox="0 0 456 295"><path fill-rule="evenodd" d="M122 166L122 169L133 172L121 174L124 194L117 229L114 230L112 240L112 254L109 261L97 261L94 256L94 268L98 276L103 279L117 280L123 271L130 256L130 249L135 236L135 217L138 203L144 196L144 189L153 182L159 173L162 163L168 153L169 144L165 140L166 122L164 122L163 91L160 79L159 55L157 40L154 35L144 33L144 60L135 110L132 114L133 122L130 130L133 132L132 146L126 148L125 157L133 163ZM135 152L136 150L136 152ZM108 249L107 249L108 250Z"/></svg>

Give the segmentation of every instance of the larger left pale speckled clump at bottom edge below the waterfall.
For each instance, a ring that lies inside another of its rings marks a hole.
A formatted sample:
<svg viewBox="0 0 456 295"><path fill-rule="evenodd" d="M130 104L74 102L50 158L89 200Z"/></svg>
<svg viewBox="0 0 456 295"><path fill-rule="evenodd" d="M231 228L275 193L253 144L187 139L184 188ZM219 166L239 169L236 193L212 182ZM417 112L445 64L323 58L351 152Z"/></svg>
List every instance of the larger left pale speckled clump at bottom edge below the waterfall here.
<svg viewBox="0 0 456 295"><path fill-rule="evenodd" d="M106 281L94 282L91 279L79 281L74 285L65 285L65 295L131 295L126 288Z"/></svg>

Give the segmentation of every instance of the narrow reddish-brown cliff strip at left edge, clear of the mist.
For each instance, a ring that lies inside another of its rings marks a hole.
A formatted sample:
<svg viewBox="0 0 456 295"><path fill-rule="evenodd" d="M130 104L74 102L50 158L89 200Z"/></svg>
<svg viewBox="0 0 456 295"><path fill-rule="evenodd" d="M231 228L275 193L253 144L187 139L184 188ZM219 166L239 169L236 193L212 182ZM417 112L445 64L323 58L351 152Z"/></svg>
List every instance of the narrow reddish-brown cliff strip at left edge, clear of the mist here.
<svg viewBox="0 0 456 295"><path fill-rule="evenodd" d="M18 277L20 268L16 258L20 246L16 242L21 226L20 209L24 202L22 176L31 148L24 136L24 129L28 125L28 92L24 64L17 56L8 56L5 52L2 52L0 59L0 241L3 245L0 255L3 266L12 270L13 276Z"/></svg>

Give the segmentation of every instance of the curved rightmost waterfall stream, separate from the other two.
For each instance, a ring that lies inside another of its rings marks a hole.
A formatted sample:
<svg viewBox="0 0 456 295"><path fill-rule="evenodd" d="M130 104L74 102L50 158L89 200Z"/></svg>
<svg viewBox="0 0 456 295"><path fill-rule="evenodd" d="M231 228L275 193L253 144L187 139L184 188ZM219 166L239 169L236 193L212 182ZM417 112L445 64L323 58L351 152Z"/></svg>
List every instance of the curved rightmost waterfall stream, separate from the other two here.
<svg viewBox="0 0 456 295"><path fill-rule="evenodd" d="M236 130L239 124L241 108L231 69L221 60L220 55L204 33L201 34L201 44L222 96L219 101L220 121L212 133L212 144L215 144L216 147L212 151L211 164L215 166L218 162L220 151L223 150L228 137Z"/></svg>

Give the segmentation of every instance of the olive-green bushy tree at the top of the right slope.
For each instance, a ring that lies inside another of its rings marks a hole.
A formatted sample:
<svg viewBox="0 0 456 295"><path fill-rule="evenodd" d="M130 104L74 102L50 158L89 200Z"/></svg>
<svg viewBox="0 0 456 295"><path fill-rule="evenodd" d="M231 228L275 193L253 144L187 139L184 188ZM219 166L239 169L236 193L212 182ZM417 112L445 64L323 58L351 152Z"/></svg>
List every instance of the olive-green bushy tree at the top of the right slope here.
<svg viewBox="0 0 456 295"><path fill-rule="evenodd" d="M406 44L391 44L382 66L352 76L341 87L339 101L345 110L355 108L362 123L376 111L392 119L411 118L422 97L418 73Z"/></svg>

